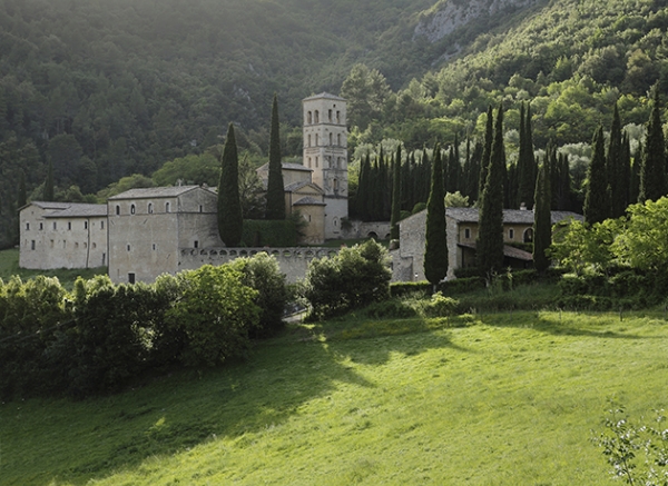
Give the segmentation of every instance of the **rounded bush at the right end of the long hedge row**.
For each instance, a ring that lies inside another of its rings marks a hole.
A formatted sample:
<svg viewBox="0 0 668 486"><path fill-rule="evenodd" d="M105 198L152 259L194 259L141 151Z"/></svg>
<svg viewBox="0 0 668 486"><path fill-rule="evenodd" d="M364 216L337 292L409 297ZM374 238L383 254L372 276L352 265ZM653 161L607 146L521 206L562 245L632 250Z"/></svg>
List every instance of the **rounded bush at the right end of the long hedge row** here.
<svg viewBox="0 0 668 486"><path fill-rule="evenodd" d="M250 329L252 337L266 337L283 328L283 314L288 299L285 275L274 257L259 252L250 258L237 258L229 264L242 274L242 284L257 290L255 304L261 308L259 323Z"/></svg>

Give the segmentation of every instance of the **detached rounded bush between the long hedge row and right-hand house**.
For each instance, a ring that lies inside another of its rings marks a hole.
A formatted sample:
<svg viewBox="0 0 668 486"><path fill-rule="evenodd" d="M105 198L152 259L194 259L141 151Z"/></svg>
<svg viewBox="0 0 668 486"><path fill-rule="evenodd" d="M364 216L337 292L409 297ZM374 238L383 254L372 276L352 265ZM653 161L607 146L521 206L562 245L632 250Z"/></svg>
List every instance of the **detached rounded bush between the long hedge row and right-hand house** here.
<svg viewBox="0 0 668 486"><path fill-rule="evenodd" d="M304 285L311 318L328 318L387 299L392 272L386 259L387 250L369 240L311 261Z"/></svg>

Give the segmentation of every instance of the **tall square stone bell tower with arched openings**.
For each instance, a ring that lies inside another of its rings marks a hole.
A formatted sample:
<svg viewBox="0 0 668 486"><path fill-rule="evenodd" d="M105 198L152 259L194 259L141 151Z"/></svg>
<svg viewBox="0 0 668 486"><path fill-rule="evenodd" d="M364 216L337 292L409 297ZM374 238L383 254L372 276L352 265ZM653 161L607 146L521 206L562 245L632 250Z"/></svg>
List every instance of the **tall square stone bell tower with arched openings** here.
<svg viewBox="0 0 668 486"><path fill-rule="evenodd" d="M341 238L341 219L347 218L346 102L323 92L302 100L304 166L325 192L325 238Z"/></svg>

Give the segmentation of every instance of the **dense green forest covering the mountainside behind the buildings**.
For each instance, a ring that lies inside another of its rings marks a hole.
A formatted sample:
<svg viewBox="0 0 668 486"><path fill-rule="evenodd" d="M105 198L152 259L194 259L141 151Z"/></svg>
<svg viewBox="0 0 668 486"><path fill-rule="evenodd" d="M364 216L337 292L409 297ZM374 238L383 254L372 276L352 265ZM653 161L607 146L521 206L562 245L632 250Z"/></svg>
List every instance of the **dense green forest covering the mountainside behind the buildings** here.
<svg viewBox="0 0 668 486"><path fill-rule="evenodd" d="M534 148L569 155L576 187L616 102L635 155L650 87L668 91L667 2L505 3L491 12L491 0L2 0L0 246L16 242L22 188L41 198L49 167L60 199L104 198L134 173L144 178L126 184L165 184L149 178L186 166L175 161L210 169L207 148L229 122L259 163L274 92L286 157L301 153L302 98L348 99L353 190L358 161L382 141L410 153L458 137L463 163L465 140L482 138L500 102L511 165L522 103ZM448 8L468 20L434 30Z"/></svg>

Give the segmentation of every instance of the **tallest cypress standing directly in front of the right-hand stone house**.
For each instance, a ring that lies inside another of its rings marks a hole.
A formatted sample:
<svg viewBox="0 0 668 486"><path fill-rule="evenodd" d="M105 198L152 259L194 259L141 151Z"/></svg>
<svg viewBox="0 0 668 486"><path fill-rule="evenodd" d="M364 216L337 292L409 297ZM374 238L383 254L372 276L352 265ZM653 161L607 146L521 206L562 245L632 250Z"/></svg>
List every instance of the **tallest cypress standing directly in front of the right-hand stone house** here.
<svg viewBox="0 0 668 486"><path fill-rule="evenodd" d="M479 230L475 251L478 269L490 279L503 268L503 106L499 106L490 165L479 208Z"/></svg>

